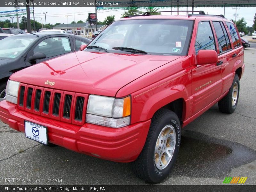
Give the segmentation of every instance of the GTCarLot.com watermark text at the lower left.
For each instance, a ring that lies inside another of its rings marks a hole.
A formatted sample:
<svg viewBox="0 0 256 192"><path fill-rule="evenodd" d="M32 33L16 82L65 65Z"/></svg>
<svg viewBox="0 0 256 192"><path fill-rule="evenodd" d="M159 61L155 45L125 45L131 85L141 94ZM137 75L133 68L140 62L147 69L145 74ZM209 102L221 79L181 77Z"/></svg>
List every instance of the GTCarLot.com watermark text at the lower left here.
<svg viewBox="0 0 256 192"><path fill-rule="evenodd" d="M15 177L4 178L6 183L62 183L62 179L23 179Z"/></svg>

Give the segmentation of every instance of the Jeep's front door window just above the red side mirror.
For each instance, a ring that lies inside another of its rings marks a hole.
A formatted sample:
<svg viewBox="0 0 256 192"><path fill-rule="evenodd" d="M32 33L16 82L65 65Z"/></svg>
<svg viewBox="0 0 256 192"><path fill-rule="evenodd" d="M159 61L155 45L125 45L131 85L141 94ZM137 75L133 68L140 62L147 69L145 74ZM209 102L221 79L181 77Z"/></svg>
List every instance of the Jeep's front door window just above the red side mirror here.
<svg viewBox="0 0 256 192"><path fill-rule="evenodd" d="M203 21L198 24L195 44L196 54L199 50L215 50L212 28L209 21Z"/></svg>

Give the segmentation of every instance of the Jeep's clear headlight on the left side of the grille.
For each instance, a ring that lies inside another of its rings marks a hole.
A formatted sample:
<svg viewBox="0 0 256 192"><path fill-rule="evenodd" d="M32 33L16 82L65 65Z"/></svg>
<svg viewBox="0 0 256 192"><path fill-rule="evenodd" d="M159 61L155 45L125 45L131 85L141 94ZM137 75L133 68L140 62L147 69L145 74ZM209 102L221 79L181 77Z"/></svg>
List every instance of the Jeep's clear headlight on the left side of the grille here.
<svg viewBox="0 0 256 192"><path fill-rule="evenodd" d="M20 82L9 80L6 86L5 99L9 102L17 104L19 87L20 87Z"/></svg>

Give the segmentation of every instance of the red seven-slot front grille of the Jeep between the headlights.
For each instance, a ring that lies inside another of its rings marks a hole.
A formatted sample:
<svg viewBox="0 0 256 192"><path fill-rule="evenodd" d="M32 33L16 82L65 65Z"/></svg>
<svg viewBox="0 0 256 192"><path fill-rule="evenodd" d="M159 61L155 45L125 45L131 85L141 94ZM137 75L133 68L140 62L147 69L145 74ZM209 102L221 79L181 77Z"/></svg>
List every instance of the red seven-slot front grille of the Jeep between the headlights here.
<svg viewBox="0 0 256 192"><path fill-rule="evenodd" d="M67 92L67 94L50 88L38 86L31 88L29 86L20 84L18 100L20 110L66 123L77 125L85 123L87 94L72 92Z"/></svg>

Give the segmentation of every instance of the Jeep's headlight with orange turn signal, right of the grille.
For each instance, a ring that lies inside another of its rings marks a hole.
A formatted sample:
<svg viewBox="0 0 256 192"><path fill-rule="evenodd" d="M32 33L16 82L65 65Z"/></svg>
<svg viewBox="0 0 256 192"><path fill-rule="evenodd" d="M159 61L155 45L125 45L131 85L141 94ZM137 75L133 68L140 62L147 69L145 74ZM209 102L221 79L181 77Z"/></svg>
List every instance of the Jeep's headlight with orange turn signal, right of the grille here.
<svg viewBox="0 0 256 192"><path fill-rule="evenodd" d="M131 97L116 99L90 95L86 122L108 127L124 127L130 124Z"/></svg>

